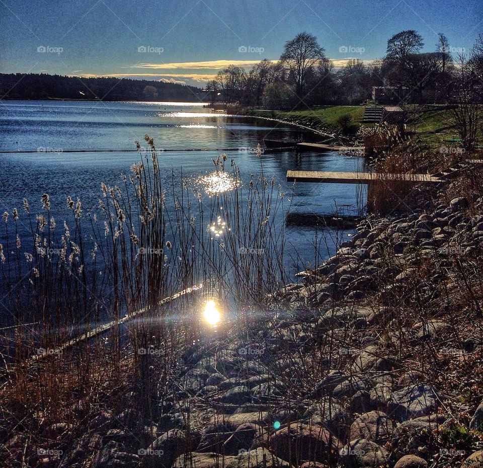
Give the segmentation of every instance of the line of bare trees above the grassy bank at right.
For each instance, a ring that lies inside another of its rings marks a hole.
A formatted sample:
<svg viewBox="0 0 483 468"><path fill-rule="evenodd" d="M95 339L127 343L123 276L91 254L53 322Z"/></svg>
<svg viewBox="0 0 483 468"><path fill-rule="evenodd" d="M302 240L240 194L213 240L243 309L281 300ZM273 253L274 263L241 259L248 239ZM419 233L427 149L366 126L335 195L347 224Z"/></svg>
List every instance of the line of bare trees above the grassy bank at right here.
<svg viewBox="0 0 483 468"><path fill-rule="evenodd" d="M316 37L302 32L285 43L279 60L264 59L250 71L229 65L206 90L212 100L221 93L227 102L270 109L360 104L373 87L393 88L404 103L447 103L463 94L481 102L483 35L470 51L450 47L442 33L433 52L421 52L423 46L417 31L401 31L387 40L383 58L351 59L337 69Z"/></svg>

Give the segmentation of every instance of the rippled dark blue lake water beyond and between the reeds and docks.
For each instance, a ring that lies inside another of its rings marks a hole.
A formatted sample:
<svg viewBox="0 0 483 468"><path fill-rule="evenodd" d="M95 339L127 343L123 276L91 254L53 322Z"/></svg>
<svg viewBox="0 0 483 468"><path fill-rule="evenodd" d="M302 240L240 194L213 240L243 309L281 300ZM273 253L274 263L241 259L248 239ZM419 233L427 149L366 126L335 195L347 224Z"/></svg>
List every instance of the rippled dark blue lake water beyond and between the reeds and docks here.
<svg viewBox="0 0 483 468"><path fill-rule="evenodd" d="M79 197L83 209L98 206L100 184L120 184L121 173L128 173L139 160L134 141L144 144L143 135L154 138L157 148L181 149L159 153L159 164L166 184L181 176L194 179L213 170L212 160L227 151L240 168L241 177L260 174L260 160L247 151L269 138L308 136L294 127L260 119L212 113L198 103L100 103L52 101L0 101L0 211L21 213L22 199L29 200L32 212L40 212L40 198L50 194L53 215L65 215L65 199ZM144 144L145 145L145 144ZM209 151L188 151L206 148ZM72 153L69 149L119 149L114 152ZM19 150L39 150L20 153ZM287 183L289 169L320 171L352 171L361 167L357 157L334 153L294 151L266 152L263 155L264 175L275 177L282 190L291 194L293 184ZM338 206L355 203L354 185L298 184L295 187L291 212L330 213ZM59 217L60 216L60 217ZM280 214L280 222L285 222ZM314 259L312 242L315 227L287 224L287 267L295 273L290 256L299 262ZM0 242L5 233L0 233ZM329 243L330 255L334 246ZM298 255L297 255L298 254Z"/></svg>

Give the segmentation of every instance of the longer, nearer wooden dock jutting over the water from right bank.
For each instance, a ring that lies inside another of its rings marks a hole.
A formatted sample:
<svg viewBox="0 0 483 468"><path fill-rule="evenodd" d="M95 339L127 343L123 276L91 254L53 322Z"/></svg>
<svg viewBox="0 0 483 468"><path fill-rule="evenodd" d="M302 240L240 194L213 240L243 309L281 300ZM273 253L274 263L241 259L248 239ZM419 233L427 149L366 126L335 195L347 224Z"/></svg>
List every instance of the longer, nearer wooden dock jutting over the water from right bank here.
<svg viewBox="0 0 483 468"><path fill-rule="evenodd" d="M371 182L405 181L413 184L438 183L430 174L378 174L371 172L287 171L288 182L325 182L332 184L370 184Z"/></svg>

